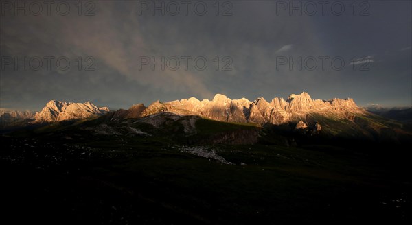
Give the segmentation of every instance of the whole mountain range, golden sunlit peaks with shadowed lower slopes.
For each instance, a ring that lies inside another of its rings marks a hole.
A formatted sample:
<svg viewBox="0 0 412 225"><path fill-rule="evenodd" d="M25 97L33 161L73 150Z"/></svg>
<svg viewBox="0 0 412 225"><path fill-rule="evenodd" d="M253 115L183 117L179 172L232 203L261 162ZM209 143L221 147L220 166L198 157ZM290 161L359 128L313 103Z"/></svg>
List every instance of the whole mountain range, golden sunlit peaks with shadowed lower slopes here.
<svg viewBox="0 0 412 225"><path fill-rule="evenodd" d="M97 118L100 118L100 122L93 129L100 134L127 134L130 130L135 134L150 134L155 132L153 128L156 128L157 131L163 130L165 133L181 131L188 135L198 132L196 123L199 119L226 124L253 124L261 128L272 126L282 128L282 135L290 130L301 130L310 135L324 134L352 139L381 139L385 136L385 139L395 140L399 135L410 134L405 131L407 126L368 112L357 106L353 99L312 99L305 92L289 95L287 99L275 97L270 102L263 97L250 101L216 94L211 100L190 97L171 102L155 101L147 107L144 104L135 104L128 110L116 111L95 106L91 102L67 103L53 100L36 113L3 112L1 128L7 130L10 127L47 126L62 121ZM150 124L152 127L141 130L140 127L137 129L124 125L130 121L135 124ZM247 135L239 135L247 138ZM253 133L253 136L253 140L258 137L257 133Z"/></svg>

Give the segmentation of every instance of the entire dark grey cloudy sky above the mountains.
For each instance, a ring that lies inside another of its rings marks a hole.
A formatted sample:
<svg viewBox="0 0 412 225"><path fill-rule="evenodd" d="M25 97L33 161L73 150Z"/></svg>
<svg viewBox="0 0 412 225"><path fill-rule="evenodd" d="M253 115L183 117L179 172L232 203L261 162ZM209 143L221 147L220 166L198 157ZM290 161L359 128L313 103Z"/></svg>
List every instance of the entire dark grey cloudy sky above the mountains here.
<svg viewBox="0 0 412 225"><path fill-rule="evenodd" d="M187 11L183 1L163 2L56 1L47 10L43 1L2 1L1 110L40 110L51 99L115 109L301 91L411 106L411 1L202 1ZM153 71L162 57L165 69Z"/></svg>

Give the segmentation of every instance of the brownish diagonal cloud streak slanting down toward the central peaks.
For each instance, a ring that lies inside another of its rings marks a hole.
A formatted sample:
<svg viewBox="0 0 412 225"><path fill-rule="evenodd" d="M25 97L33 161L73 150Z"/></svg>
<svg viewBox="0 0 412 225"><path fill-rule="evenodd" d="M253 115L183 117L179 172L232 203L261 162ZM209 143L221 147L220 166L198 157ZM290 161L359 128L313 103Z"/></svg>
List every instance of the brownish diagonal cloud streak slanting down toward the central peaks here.
<svg viewBox="0 0 412 225"><path fill-rule="evenodd" d="M122 14L122 11L115 10L111 2L101 4L101 11L88 21L81 17L61 21L68 46L98 56L106 66L143 86L165 93L184 90L200 97L212 95L201 77L196 76L196 71L152 71L150 65L140 70L140 56L154 56L157 60L161 56L168 56L154 51L159 46L157 39L148 39L142 34L137 12ZM76 29L73 29L73 25L76 25ZM172 51L176 52L175 49Z"/></svg>

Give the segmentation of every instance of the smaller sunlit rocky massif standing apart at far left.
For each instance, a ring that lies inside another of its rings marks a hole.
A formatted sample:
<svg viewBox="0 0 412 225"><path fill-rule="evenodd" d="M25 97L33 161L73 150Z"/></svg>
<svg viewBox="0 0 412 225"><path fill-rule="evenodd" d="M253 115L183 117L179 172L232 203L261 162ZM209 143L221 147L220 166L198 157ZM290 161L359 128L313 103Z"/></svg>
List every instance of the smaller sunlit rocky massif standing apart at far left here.
<svg viewBox="0 0 412 225"><path fill-rule="evenodd" d="M55 122L74 119L84 119L92 115L103 115L108 112L107 107L98 107L91 102L73 103L52 100L34 115L35 123Z"/></svg>

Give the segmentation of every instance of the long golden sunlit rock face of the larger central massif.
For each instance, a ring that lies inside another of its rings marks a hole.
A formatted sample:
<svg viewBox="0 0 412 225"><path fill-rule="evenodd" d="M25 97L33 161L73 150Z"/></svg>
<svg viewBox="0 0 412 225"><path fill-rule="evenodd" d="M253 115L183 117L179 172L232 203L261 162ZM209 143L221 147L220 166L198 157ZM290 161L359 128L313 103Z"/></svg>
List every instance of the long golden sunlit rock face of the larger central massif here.
<svg viewBox="0 0 412 225"><path fill-rule="evenodd" d="M310 113L330 114L334 117L353 120L356 114L365 110L356 106L353 99L312 99L308 93L292 94L288 99L275 97L270 102L263 97L253 102L248 99L229 99L217 94L210 101L190 99L172 102L154 102L141 113L141 116L159 112L172 112L176 115L198 115L208 119L237 123L282 124L290 121L301 121ZM319 125L320 126L320 125Z"/></svg>

